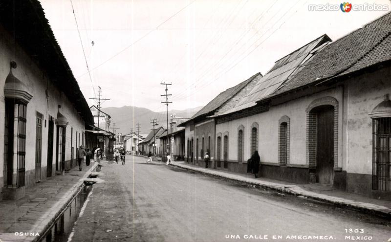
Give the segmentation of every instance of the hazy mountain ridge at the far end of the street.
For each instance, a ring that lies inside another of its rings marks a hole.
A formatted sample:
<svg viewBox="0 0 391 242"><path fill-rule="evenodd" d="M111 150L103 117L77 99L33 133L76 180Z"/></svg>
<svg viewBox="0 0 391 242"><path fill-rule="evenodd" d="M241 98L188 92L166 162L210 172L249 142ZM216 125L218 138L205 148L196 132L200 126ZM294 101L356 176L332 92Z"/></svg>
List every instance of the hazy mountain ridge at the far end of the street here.
<svg viewBox="0 0 391 242"><path fill-rule="evenodd" d="M202 107L197 107L193 109L186 110L169 110L169 120L170 115L175 113L177 117L190 118L198 110L201 110ZM157 119L159 126L166 128L166 112L154 112L146 108L138 108L132 106L124 106L121 108L104 108L102 111L106 112L111 116L111 132L113 125L115 123L115 128L119 128L115 133L129 133L130 128L133 128L133 131L136 131L136 124L139 123L140 134L148 134L152 129L151 119Z"/></svg>

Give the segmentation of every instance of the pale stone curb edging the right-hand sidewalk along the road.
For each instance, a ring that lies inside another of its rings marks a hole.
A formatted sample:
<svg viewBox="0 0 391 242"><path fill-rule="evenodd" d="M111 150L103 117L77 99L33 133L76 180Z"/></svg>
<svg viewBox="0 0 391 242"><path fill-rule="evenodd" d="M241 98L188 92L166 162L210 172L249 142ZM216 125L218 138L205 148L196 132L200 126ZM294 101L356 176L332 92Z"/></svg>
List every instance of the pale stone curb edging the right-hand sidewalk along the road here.
<svg viewBox="0 0 391 242"><path fill-rule="evenodd" d="M297 197L300 196L300 197L304 197L304 198L310 198L310 199L338 205L341 207L346 207L349 209L359 210L359 211L367 213L367 214L385 217L386 219L391 219L391 209L390 208L376 205L376 204L372 204L372 203L359 202L359 201L354 201L354 200L348 200L345 198L337 198L337 197L332 197L329 195L319 194L316 192L310 192L310 191L306 191L303 188L296 186L296 185L284 185L284 184L274 183L274 182L269 182L269 181L255 180L255 179L247 178L247 177L243 177L243 178L233 177L230 175L219 173L217 171L205 171L205 170L201 170L198 168L188 167L185 165L175 164L175 163L172 165L176 166L176 167L183 168L183 169L207 174L207 175L218 176L218 177L222 177L222 178L226 178L226 179L230 179L230 180L244 182L247 184L259 186L260 188L278 191L283 194L289 194L289 195L293 195L293 196L297 196Z"/></svg>

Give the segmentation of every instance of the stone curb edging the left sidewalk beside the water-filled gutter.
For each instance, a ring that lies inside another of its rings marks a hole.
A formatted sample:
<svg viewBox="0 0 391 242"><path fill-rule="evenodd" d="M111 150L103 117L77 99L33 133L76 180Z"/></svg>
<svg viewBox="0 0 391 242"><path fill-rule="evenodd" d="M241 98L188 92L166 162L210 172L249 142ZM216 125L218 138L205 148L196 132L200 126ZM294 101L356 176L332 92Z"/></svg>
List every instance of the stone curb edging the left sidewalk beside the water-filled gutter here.
<svg viewBox="0 0 391 242"><path fill-rule="evenodd" d="M94 164L88 169L86 174L82 176L82 178L79 179L79 181L71 188L68 190L64 198L59 201L58 205L55 204L53 205L46 213L44 216L48 217L49 219L45 220L43 224L36 224L35 227L32 229L32 231L37 231L41 236L33 237L31 240L25 240L25 241L31 241L31 242L36 242L40 241L43 239L43 236L47 233L48 229L51 227L52 223L58 219L58 217L63 213L63 211L66 209L68 206L69 202L77 196L79 193L80 189L84 186L84 179L89 176L89 174L95 170L95 168L98 166L98 162L94 162Z"/></svg>

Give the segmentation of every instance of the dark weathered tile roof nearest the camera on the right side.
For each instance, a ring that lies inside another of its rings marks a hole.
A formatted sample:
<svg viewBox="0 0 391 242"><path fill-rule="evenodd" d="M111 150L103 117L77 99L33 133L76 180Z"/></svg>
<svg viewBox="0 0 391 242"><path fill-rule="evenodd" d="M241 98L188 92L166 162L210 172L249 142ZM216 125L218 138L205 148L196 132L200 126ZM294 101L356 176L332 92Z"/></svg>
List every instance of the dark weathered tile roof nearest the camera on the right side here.
<svg viewBox="0 0 391 242"><path fill-rule="evenodd" d="M269 97L391 59L391 13L320 49Z"/></svg>

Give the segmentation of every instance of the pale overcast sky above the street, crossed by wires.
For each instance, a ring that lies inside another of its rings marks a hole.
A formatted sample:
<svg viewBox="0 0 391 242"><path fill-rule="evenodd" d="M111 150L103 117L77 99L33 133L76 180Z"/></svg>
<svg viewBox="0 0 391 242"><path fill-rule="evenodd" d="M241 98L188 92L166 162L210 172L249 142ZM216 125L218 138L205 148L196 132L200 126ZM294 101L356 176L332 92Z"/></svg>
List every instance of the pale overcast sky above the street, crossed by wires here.
<svg viewBox="0 0 391 242"><path fill-rule="evenodd" d="M323 34L333 41L391 10L340 9L309 0L40 0L89 105L164 111L204 106L218 93L265 74ZM310 11L310 4L324 11ZM87 63L87 64L86 64ZM89 72L88 72L88 69Z"/></svg>

